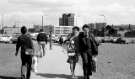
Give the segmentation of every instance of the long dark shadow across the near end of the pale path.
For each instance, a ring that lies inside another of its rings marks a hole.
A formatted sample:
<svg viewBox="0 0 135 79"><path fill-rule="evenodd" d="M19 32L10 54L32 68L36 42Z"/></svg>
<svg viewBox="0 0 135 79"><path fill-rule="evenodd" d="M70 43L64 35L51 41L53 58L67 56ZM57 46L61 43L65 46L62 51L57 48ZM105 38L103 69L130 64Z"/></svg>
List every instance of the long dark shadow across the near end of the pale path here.
<svg viewBox="0 0 135 79"><path fill-rule="evenodd" d="M43 73L38 73L37 75L45 77L45 78L65 78L65 79L72 79L71 75L65 75L65 74L43 74ZM78 77L77 79L82 79L82 77Z"/></svg>

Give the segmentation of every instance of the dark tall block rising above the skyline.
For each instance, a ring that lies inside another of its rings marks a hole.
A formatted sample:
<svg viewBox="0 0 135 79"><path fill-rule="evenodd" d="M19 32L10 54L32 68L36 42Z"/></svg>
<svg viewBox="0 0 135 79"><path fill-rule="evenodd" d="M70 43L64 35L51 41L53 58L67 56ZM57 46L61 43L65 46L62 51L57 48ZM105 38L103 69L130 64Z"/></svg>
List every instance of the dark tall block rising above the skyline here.
<svg viewBox="0 0 135 79"><path fill-rule="evenodd" d="M68 13L63 14L62 18L59 18L59 25L60 26L74 26L74 14Z"/></svg>

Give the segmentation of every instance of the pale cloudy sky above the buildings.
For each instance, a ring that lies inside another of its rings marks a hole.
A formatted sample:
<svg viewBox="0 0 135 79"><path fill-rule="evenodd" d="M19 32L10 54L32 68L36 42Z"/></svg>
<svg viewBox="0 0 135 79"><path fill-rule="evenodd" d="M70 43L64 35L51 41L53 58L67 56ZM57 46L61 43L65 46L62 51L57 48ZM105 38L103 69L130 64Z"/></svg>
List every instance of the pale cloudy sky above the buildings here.
<svg viewBox="0 0 135 79"><path fill-rule="evenodd" d="M45 25L58 25L63 13L74 13L78 26L91 22L135 24L134 4L135 0L0 0L0 23L41 24L44 16Z"/></svg>

